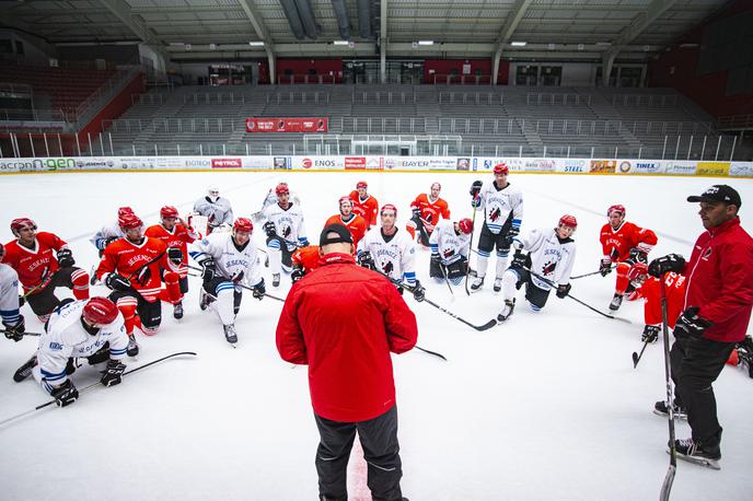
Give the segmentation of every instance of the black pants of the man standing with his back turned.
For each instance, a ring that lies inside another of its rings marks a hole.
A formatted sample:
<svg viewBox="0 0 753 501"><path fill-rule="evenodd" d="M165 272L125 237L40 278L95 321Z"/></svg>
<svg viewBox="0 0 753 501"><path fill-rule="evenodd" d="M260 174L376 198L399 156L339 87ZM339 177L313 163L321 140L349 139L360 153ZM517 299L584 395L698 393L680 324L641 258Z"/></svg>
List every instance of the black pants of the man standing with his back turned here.
<svg viewBox="0 0 753 501"><path fill-rule="evenodd" d="M326 500L348 499L346 473L356 431L368 464L367 485L374 501L399 501L403 467L397 443L397 407L361 422L336 422L314 415L321 442L316 450L318 493Z"/></svg>

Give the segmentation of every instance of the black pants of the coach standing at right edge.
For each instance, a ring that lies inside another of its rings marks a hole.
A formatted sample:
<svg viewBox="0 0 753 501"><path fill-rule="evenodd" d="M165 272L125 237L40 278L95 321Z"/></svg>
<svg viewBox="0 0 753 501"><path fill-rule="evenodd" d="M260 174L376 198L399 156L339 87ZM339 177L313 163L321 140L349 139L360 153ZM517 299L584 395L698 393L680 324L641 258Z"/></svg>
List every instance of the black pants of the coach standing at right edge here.
<svg viewBox="0 0 753 501"><path fill-rule="evenodd" d="M694 336L676 338L670 350L675 403L687 412L693 440L711 447L721 441L711 383L719 376L734 346L734 342Z"/></svg>

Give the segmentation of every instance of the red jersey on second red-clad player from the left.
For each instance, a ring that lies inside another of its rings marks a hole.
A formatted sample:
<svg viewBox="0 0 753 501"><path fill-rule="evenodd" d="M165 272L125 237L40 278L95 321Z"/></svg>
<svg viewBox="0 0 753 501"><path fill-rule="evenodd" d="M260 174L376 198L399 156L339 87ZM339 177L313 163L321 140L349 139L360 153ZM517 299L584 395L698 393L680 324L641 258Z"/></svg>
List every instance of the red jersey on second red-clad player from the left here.
<svg viewBox="0 0 753 501"><path fill-rule="evenodd" d="M96 278L100 280L106 273L119 273L131 281L134 289L153 303L159 300L162 290L160 268L176 271L176 266L167 259L167 246L158 238L144 237L140 245L134 244L127 238L118 238L105 248L104 256L96 268ZM149 265L148 271L139 270L143 265L158 258ZM137 276L141 276L139 280Z"/></svg>

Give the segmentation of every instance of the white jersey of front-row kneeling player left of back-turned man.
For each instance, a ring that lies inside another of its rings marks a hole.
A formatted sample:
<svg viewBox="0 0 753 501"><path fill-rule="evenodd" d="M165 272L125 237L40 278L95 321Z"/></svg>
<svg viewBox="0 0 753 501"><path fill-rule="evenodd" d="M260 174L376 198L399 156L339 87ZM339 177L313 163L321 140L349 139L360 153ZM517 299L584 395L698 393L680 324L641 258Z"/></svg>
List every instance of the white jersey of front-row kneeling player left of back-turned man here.
<svg viewBox="0 0 753 501"><path fill-rule="evenodd" d="M251 287L262 281L258 252L251 240L243 250L239 250L231 233L212 233L194 242L192 247L190 257L200 263L206 256L211 256L215 259L217 272L228 280L243 273L243 280Z"/></svg>

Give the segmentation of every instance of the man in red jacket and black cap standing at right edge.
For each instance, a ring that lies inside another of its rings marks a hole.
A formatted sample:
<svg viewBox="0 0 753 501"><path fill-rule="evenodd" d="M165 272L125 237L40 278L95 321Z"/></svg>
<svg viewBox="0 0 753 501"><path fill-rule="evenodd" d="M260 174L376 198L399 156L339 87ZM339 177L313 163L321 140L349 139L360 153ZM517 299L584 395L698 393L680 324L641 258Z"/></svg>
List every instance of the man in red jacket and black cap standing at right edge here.
<svg viewBox="0 0 753 501"><path fill-rule="evenodd" d="M740 225L740 195L715 185L700 196L700 221L706 229L695 243L691 260L670 254L654 259L649 273L668 271L687 277L684 312L674 327L670 352L675 383L674 405L687 412L693 436L675 441L677 456L719 469L721 426L711 383L737 342L745 338L753 310L753 238ZM656 410L667 411L658 401Z"/></svg>

